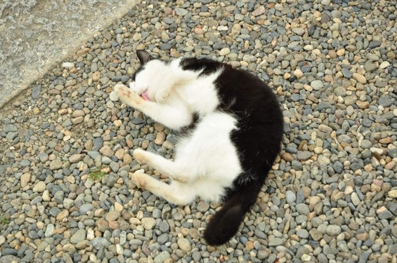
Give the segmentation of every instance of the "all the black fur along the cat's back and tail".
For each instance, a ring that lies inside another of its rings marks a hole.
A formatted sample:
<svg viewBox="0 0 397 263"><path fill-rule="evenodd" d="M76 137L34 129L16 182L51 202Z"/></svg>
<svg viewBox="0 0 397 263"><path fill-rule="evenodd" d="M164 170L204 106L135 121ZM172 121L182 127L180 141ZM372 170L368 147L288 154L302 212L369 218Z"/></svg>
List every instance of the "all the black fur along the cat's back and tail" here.
<svg viewBox="0 0 397 263"><path fill-rule="evenodd" d="M181 66L185 70L202 70L201 75L222 69L215 81L221 100L218 110L233 114L238 121L230 137L240 155L243 172L233 187L226 189L226 203L204 231L207 243L221 245L237 232L280 151L282 112L273 91L249 72L208 59L184 59Z"/></svg>

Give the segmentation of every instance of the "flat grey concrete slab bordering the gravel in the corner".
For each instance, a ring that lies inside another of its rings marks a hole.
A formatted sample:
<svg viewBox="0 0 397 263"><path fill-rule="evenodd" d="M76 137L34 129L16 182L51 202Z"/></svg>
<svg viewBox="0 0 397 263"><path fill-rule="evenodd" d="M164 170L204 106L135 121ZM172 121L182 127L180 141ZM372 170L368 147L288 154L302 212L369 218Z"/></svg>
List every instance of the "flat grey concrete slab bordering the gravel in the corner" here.
<svg viewBox="0 0 397 263"><path fill-rule="evenodd" d="M0 108L138 2L0 1Z"/></svg>

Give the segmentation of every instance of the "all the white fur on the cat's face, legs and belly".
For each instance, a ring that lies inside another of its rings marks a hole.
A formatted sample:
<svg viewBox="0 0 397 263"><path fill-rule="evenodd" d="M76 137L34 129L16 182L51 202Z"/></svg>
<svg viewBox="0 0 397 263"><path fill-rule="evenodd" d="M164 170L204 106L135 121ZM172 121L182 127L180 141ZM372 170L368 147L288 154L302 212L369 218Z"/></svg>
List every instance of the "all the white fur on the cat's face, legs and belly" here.
<svg viewBox="0 0 397 263"><path fill-rule="evenodd" d="M144 173L134 174L133 180L138 187L178 205L186 205L196 196L219 201L225 188L231 187L233 180L242 173L237 149L230 140L237 121L229 114L216 111L219 98L214 81L222 69L199 77L200 72L184 71L179 62L174 60L166 65L152 60L138 72L130 90L122 85L115 86L123 102L169 128L178 130L188 126L193 113L200 115L193 133L176 145L174 161L142 149L134 151L139 163L148 163L168 175L171 184ZM140 97L145 91L151 101Z"/></svg>

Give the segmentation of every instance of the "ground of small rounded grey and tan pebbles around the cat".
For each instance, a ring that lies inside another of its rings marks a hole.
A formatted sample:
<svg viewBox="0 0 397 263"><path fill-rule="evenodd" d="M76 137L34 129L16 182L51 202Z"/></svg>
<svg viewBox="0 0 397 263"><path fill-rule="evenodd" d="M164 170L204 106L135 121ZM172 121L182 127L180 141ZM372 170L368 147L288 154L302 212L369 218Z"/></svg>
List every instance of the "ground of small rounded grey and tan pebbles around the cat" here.
<svg viewBox="0 0 397 263"><path fill-rule="evenodd" d="M397 262L397 2L150 2L1 109L0 262ZM218 205L130 179L149 169L133 149L174 147L112 93L136 49L228 62L280 97L280 158L226 245L201 237Z"/></svg>

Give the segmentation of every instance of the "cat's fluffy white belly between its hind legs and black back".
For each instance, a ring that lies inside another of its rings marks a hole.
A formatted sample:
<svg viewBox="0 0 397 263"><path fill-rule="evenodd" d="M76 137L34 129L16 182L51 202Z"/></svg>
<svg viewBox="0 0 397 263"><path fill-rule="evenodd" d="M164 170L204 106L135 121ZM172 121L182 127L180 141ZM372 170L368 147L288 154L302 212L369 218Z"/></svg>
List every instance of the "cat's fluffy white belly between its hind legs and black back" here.
<svg viewBox="0 0 397 263"><path fill-rule="evenodd" d="M193 134L176 145L175 162L183 167L197 196L218 201L225 187L242 172L237 149L230 140L236 122L223 112L207 114Z"/></svg>

